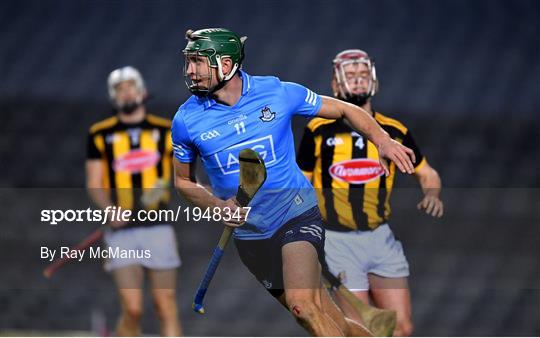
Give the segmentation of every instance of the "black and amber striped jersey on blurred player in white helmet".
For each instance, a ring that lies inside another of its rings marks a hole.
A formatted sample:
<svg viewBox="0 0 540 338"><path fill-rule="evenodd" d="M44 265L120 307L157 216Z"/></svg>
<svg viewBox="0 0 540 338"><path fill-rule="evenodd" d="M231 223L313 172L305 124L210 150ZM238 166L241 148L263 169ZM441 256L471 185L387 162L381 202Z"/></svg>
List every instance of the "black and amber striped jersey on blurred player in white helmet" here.
<svg viewBox="0 0 540 338"><path fill-rule="evenodd" d="M171 122L147 114L137 124L122 123L116 116L94 124L88 133L87 159L103 163L103 187L113 203L124 209L166 207L170 193L144 203L152 188L168 185L172 171ZM156 189L154 189L154 192Z"/></svg>

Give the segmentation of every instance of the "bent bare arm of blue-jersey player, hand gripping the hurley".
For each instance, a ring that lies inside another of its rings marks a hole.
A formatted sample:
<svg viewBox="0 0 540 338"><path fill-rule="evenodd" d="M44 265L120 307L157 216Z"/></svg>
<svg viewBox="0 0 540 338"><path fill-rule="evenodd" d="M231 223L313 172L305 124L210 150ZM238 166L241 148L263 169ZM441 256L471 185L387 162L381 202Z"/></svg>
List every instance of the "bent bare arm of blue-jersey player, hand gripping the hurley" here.
<svg viewBox="0 0 540 338"><path fill-rule="evenodd" d="M215 208L218 207L221 210L229 208L232 212L238 209L236 200L230 198L228 200L222 200L214 196L205 187L198 184L193 178L194 164L182 163L178 159L174 159L174 186L178 192L184 196L188 201L201 208ZM226 209L225 209L226 210ZM224 222L228 226L237 227L244 224L245 211L240 209L240 218L232 218L229 222Z"/></svg>

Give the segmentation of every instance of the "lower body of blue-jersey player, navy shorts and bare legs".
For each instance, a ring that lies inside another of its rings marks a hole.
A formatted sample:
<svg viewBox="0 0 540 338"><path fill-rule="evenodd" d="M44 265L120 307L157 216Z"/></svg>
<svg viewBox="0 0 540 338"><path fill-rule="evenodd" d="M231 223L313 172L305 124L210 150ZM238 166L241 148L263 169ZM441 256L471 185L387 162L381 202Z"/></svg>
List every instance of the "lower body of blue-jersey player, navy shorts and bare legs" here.
<svg viewBox="0 0 540 338"><path fill-rule="evenodd" d="M324 256L321 222L318 209L314 208L291 220L270 239L235 239L235 244L244 265L312 335L356 332L349 329L339 310L330 314L341 316L338 321L342 327L324 310L329 298L321 296L320 261ZM298 316L292 311L294 305L300 306L296 308L301 310Z"/></svg>

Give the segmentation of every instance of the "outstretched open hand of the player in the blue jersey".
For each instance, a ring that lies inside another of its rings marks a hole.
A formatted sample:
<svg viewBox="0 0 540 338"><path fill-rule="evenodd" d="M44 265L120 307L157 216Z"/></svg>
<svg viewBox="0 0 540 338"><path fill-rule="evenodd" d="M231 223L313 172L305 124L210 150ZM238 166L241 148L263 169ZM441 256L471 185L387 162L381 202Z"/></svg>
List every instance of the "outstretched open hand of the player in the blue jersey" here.
<svg viewBox="0 0 540 338"><path fill-rule="evenodd" d="M411 149L388 137L379 144L377 150L379 151L379 162L386 176L390 175L388 160L394 162L402 173L414 174L413 163L416 162L416 157Z"/></svg>

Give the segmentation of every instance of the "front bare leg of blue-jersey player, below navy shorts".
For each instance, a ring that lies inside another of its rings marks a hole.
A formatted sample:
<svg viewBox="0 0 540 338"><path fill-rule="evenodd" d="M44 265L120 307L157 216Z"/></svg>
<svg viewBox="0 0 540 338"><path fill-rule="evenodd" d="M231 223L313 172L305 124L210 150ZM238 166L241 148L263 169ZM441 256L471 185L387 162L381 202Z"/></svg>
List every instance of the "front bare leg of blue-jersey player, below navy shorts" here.
<svg viewBox="0 0 540 338"><path fill-rule="evenodd" d="M282 247L283 283L281 297L296 321L314 336L343 336L343 330L323 310L321 268L315 247L306 241Z"/></svg>

